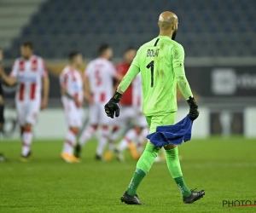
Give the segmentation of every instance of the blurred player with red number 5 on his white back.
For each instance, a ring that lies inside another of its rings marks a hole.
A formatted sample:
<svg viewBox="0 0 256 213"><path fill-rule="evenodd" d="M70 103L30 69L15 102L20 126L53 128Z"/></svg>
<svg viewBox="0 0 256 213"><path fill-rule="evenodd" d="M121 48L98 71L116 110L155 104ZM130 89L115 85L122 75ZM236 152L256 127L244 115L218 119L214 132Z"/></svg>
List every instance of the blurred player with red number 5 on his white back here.
<svg viewBox="0 0 256 213"><path fill-rule="evenodd" d="M79 144L76 147L76 157L79 157L81 148L84 143L90 140L97 128L100 127L98 147L96 149L96 159L102 159L102 152L108 143L110 119L104 112L104 105L113 95L113 78L120 80L120 76L109 60L112 58L113 52L108 44L104 44L99 48L99 57L90 61L84 72L85 93L91 95L89 123L82 133ZM92 91L93 93L91 93Z"/></svg>

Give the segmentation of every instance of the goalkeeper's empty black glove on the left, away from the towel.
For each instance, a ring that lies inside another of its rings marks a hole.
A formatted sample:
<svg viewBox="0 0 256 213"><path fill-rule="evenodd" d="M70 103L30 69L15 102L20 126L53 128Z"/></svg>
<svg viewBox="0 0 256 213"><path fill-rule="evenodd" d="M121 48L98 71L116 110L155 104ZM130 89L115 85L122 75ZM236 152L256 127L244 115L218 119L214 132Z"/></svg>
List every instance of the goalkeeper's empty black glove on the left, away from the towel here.
<svg viewBox="0 0 256 213"><path fill-rule="evenodd" d="M115 117L119 117L119 101L121 100L121 97L122 95L115 91L113 97L105 105L104 108L108 117L113 118L113 115L115 115Z"/></svg>

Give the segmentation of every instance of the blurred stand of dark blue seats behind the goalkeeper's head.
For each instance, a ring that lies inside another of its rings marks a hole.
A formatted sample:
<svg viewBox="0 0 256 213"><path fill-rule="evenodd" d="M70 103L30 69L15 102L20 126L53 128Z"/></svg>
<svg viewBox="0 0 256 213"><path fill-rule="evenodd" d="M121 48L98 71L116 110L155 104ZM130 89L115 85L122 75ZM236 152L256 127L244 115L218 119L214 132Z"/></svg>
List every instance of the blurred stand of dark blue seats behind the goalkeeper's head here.
<svg viewBox="0 0 256 213"><path fill-rule="evenodd" d="M18 56L30 39L44 58L66 57L78 49L86 58L100 43L113 45L114 57L127 46L138 48L158 33L156 20L165 10L179 17L177 42L187 56L256 55L255 0L48 0L15 37L6 57Z"/></svg>

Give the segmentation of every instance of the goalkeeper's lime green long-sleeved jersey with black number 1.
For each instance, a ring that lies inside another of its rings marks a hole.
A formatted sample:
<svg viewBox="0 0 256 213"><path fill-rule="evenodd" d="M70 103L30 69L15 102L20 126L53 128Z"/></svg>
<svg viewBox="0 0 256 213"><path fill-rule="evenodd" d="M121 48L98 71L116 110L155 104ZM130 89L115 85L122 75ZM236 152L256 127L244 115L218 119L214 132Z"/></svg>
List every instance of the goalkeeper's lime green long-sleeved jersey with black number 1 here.
<svg viewBox="0 0 256 213"><path fill-rule="evenodd" d="M185 99L192 96L184 72L183 46L170 37L155 37L137 51L129 71L119 84L125 92L141 72L143 113L146 116L177 111L177 85Z"/></svg>

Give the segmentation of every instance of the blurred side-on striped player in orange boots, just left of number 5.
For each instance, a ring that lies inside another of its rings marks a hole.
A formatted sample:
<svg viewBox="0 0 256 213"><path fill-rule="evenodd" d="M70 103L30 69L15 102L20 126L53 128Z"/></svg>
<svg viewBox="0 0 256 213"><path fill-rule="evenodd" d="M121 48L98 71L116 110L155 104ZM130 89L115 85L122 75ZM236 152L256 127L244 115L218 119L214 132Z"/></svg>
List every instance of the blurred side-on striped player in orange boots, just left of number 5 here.
<svg viewBox="0 0 256 213"><path fill-rule="evenodd" d="M66 115L67 135L61 153L61 158L67 163L79 163L79 158L73 156L73 147L76 145L76 137L83 125L83 101L84 86L79 66L82 65L82 55L78 52L69 54L69 65L60 75L61 102Z"/></svg>

